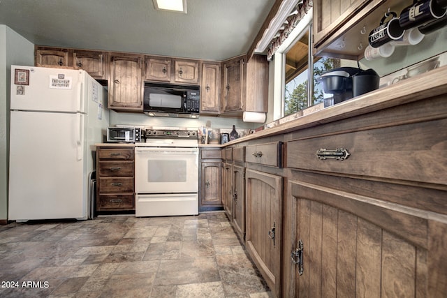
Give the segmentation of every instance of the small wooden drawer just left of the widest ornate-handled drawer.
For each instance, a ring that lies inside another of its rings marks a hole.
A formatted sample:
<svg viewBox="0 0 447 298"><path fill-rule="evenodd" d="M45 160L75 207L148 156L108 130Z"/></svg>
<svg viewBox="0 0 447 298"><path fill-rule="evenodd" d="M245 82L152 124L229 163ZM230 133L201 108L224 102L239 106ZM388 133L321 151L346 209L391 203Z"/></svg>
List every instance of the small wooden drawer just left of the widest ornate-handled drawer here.
<svg viewBox="0 0 447 298"><path fill-rule="evenodd" d="M245 149L245 161L247 163L281 167L281 145L282 142L272 142L247 146Z"/></svg>

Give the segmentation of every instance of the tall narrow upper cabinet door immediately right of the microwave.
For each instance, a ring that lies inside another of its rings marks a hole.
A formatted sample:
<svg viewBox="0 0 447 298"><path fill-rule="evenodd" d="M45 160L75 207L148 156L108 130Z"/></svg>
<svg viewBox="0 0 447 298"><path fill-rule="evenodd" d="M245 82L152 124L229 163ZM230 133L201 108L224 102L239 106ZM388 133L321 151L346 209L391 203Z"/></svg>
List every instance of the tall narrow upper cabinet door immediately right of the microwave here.
<svg viewBox="0 0 447 298"><path fill-rule="evenodd" d="M200 113L219 114L220 112L220 64L202 65L202 83L200 84Z"/></svg>

